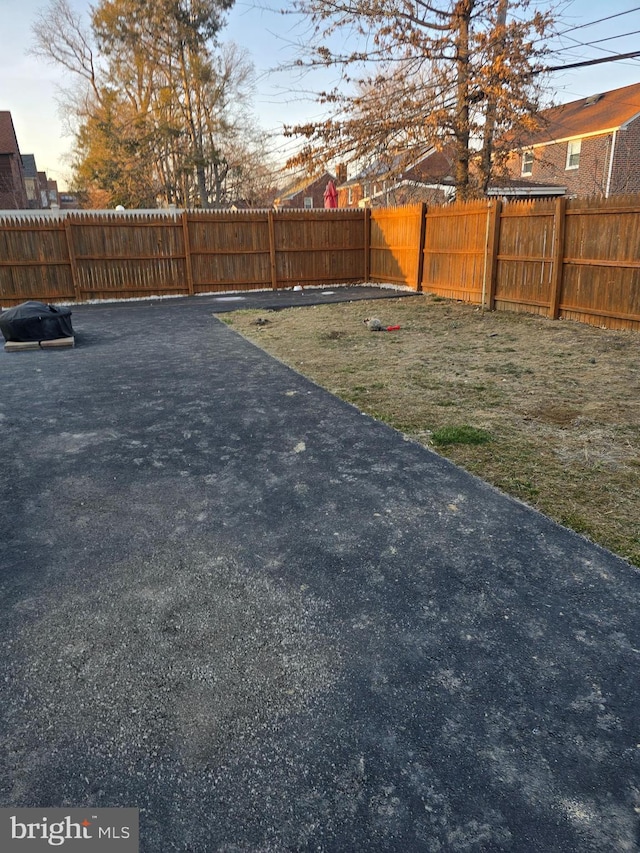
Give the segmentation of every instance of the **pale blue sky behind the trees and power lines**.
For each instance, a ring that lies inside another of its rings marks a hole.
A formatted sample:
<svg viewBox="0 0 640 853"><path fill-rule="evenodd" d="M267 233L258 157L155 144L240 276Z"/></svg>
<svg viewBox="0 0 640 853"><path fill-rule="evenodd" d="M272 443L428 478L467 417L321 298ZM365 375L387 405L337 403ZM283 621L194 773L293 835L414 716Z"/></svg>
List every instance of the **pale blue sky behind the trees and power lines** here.
<svg viewBox="0 0 640 853"><path fill-rule="evenodd" d="M91 2L70 0L81 13L89 9ZM0 110L11 112L20 151L35 154L38 169L46 171L64 189L73 140L61 113L59 91L68 84L68 77L28 53L33 46L32 25L38 12L47 5L47 0L0 0ZM560 44L556 43L563 50L553 64L638 49L640 2L562 0L561 5L564 7L561 29L566 32ZM227 13L227 25L221 33L221 40L235 42L253 62L256 120L272 134L272 151L283 159L293 143L281 136L282 125L322 115L322 107L306 94L314 89L313 79L300 79L293 72L275 70L295 58L295 45L305 38L306 23L280 13L280 9L287 7L290 9L290 0L237 0ZM592 24L595 21L599 23ZM586 42L594 41L598 44L585 46ZM322 85L327 82L325 78ZM549 80L555 103L639 82L640 58L559 71Z"/></svg>

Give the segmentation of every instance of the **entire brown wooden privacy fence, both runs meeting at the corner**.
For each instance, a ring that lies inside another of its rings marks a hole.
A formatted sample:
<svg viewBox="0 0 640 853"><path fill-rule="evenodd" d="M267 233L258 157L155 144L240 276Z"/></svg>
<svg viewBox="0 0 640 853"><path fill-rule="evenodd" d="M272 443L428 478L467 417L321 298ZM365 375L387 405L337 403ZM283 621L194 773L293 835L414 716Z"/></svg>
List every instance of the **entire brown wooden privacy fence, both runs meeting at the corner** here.
<svg viewBox="0 0 640 853"><path fill-rule="evenodd" d="M0 305L378 281L640 330L640 196L0 218Z"/></svg>

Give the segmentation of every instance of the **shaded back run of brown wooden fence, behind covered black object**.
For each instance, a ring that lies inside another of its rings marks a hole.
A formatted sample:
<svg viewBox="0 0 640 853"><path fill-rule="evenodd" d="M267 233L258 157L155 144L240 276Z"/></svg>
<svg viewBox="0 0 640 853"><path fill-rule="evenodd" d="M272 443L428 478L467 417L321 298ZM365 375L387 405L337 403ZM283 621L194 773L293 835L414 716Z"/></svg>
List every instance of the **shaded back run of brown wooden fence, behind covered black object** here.
<svg viewBox="0 0 640 853"><path fill-rule="evenodd" d="M362 210L0 218L0 305L362 281Z"/></svg>

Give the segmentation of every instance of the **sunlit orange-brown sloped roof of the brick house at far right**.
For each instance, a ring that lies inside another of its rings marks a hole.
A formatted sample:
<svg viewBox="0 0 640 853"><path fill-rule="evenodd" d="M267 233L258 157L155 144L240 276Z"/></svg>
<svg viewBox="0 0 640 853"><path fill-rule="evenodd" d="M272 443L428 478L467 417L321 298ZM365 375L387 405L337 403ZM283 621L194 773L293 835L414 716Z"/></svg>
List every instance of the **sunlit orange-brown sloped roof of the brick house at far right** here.
<svg viewBox="0 0 640 853"><path fill-rule="evenodd" d="M619 130L640 116L640 83L542 110L542 127L519 140L521 147L545 145Z"/></svg>

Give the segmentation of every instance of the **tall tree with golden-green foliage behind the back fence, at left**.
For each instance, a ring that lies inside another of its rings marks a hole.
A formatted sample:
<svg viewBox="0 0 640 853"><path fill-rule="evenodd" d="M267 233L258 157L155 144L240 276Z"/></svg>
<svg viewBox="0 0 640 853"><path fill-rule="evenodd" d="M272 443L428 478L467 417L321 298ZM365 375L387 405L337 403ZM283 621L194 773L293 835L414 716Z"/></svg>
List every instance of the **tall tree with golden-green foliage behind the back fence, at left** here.
<svg viewBox="0 0 640 853"><path fill-rule="evenodd" d="M86 29L68 0L52 0L33 28L34 52L84 83L67 99L78 188L106 189L126 207L224 203L226 150L241 132L251 138L252 67L217 42L232 3L99 0Z"/></svg>

